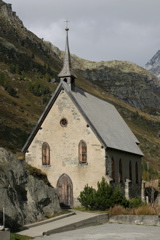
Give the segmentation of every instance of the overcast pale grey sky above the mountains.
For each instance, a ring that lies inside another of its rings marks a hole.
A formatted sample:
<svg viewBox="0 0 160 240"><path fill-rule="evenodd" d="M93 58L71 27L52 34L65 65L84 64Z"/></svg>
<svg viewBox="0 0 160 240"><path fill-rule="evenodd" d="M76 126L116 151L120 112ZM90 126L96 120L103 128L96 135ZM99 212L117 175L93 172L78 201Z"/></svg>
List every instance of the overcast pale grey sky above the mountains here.
<svg viewBox="0 0 160 240"><path fill-rule="evenodd" d="M144 66L160 50L160 0L3 0L38 37L92 61Z"/></svg>

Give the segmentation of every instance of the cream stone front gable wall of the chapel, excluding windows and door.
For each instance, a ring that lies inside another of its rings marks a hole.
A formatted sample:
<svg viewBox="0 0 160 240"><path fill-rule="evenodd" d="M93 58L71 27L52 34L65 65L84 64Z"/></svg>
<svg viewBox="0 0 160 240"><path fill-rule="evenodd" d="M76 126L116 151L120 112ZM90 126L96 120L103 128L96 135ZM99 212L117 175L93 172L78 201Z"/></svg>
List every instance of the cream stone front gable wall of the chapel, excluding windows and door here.
<svg viewBox="0 0 160 240"><path fill-rule="evenodd" d="M62 118L67 119L67 127L60 125ZM105 176L105 149L64 90L41 127L26 153L26 161L45 172L54 187L66 173L73 182L74 199L86 184L96 188L97 181ZM80 165L78 161L80 140L87 143L87 165ZM50 146L50 167L42 166L43 142Z"/></svg>

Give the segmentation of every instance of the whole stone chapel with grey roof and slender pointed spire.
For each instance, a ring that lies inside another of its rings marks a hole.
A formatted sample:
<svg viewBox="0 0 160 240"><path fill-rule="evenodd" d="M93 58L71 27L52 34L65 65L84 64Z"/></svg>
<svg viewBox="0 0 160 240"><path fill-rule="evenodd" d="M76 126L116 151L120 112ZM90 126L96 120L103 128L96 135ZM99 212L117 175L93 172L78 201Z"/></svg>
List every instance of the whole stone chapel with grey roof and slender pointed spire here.
<svg viewBox="0 0 160 240"><path fill-rule="evenodd" d="M104 177L127 199L143 195L139 141L116 108L76 87L66 28L60 83L26 141L25 160L57 189L61 205L80 205L88 184Z"/></svg>

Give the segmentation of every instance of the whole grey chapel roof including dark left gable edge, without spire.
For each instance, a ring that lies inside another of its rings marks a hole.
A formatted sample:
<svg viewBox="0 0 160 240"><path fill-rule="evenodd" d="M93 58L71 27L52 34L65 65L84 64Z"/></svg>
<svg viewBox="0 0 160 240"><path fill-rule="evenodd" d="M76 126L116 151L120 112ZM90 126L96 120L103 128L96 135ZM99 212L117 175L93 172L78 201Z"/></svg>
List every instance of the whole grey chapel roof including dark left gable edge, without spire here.
<svg viewBox="0 0 160 240"><path fill-rule="evenodd" d="M137 146L139 141L112 104L77 87L75 87L74 91L71 91L69 85L64 81L61 81L57 87L36 127L24 145L23 152L27 151L61 89L64 89L68 93L105 148L113 148L143 156L143 153Z"/></svg>

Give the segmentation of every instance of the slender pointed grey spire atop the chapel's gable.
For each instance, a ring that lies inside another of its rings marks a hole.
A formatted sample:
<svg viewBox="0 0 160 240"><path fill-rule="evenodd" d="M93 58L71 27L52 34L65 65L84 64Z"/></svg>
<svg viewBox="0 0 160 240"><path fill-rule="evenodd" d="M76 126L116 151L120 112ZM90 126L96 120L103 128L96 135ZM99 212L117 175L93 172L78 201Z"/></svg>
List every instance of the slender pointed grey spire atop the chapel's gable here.
<svg viewBox="0 0 160 240"><path fill-rule="evenodd" d="M66 27L66 48L65 48L65 55L64 55L64 60L63 60L63 68L61 72L58 74L58 77L70 85L72 89L72 85L74 85L74 80L76 76L74 75L72 71L72 66L71 66L71 57L70 57L70 51L69 51L69 42L68 42L68 31L69 28Z"/></svg>

